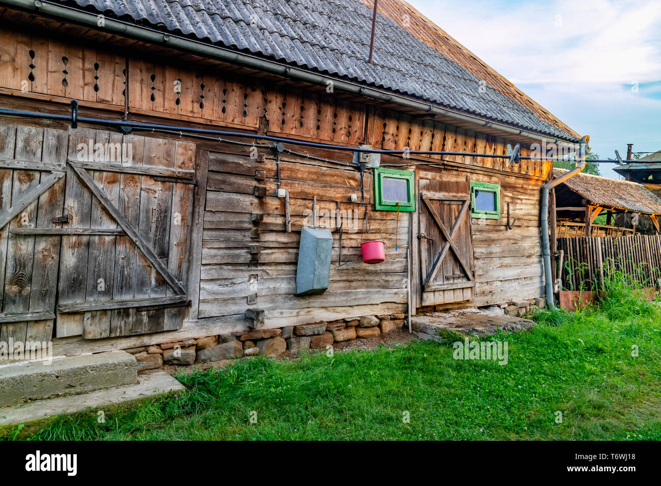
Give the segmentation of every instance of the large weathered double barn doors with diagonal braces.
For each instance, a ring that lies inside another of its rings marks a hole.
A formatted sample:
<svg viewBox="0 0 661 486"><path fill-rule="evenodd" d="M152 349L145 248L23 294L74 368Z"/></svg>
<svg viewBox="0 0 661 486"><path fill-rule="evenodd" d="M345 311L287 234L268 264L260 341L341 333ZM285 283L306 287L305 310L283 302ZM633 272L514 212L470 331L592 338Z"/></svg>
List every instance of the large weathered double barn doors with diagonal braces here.
<svg viewBox="0 0 661 486"><path fill-rule="evenodd" d="M179 329L194 148L0 125L0 341Z"/></svg>

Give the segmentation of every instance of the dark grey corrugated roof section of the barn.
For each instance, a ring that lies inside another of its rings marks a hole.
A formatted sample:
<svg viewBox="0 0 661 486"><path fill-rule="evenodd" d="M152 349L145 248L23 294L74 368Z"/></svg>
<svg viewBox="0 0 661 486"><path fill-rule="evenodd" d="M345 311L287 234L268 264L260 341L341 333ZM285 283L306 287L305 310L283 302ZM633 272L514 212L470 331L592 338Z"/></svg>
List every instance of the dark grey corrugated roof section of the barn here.
<svg viewBox="0 0 661 486"><path fill-rule="evenodd" d="M574 140L380 14L370 65L372 11L360 0L73 1L106 15Z"/></svg>

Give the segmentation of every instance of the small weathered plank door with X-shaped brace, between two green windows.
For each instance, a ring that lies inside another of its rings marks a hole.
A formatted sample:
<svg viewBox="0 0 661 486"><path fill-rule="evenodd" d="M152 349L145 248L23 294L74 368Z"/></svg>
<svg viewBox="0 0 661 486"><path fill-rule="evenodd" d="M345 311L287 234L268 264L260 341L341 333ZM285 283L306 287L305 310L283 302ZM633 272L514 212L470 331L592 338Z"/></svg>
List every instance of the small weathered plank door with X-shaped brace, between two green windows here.
<svg viewBox="0 0 661 486"><path fill-rule="evenodd" d="M421 305L473 298L470 187L468 178L418 181Z"/></svg>

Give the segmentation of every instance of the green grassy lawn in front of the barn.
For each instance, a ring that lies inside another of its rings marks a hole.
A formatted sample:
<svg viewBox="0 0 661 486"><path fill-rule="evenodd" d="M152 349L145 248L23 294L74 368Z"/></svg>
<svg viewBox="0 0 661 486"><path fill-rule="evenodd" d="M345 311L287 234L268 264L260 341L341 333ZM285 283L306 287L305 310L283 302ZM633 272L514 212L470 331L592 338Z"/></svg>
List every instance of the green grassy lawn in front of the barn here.
<svg viewBox="0 0 661 486"><path fill-rule="evenodd" d="M237 360L178 376L187 388L178 396L106 412L104 424L95 412L59 417L32 439L659 440L659 317L658 304L626 296L578 313L541 311L532 331L496 337L508 341L504 366L421 341Z"/></svg>

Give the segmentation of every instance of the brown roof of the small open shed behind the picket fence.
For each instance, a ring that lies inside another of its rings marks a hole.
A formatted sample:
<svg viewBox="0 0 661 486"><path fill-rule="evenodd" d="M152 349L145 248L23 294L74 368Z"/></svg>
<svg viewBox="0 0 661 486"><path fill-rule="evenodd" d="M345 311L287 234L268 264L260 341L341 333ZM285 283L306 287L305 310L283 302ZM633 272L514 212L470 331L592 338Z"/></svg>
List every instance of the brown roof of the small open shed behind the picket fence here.
<svg viewBox="0 0 661 486"><path fill-rule="evenodd" d="M560 177L565 172L565 169L553 169L553 177ZM594 206L631 210L643 214L661 214L661 199L638 182L577 174L563 184Z"/></svg>

